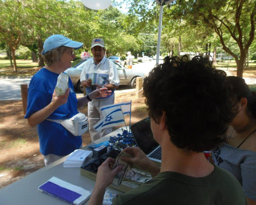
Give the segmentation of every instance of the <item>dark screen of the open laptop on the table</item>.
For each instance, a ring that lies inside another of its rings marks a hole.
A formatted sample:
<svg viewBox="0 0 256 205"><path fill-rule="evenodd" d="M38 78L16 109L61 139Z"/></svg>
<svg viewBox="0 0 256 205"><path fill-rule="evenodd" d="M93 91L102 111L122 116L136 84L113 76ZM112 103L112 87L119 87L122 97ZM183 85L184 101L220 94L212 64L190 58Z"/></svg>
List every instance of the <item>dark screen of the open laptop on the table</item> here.
<svg viewBox="0 0 256 205"><path fill-rule="evenodd" d="M131 125L131 131L138 147L141 148L145 154L149 154L158 146L150 128L150 117Z"/></svg>

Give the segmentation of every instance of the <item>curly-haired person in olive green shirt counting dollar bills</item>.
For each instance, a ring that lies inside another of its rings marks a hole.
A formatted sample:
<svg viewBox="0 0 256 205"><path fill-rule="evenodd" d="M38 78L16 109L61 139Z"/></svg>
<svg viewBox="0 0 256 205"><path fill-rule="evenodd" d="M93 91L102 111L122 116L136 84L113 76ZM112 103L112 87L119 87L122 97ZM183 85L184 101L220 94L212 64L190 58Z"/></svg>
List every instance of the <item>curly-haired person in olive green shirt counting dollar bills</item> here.
<svg viewBox="0 0 256 205"><path fill-rule="evenodd" d="M124 149L133 157L122 160L149 171L153 179L118 194L112 204L245 205L236 178L203 153L225 140L236 115L226 73L203 56L166 58L145 78L143 94L154 139L162 148L161 168L140 148ZM120 170L110 170L114 162L108 158L98 168L90 205L102 204L106 187Z"/></svg>

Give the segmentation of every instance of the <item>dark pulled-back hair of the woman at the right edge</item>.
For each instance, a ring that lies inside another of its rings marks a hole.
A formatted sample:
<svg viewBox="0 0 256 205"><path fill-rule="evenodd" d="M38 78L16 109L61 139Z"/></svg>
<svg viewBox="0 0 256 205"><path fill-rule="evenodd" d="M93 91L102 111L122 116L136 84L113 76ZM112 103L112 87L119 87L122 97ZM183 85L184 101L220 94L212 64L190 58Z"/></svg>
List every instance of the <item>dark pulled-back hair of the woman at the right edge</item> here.
<svg viewBox="0 0 256 205"><path fill-rule="evenodd" d="M247 99L248 115L256 120L256 92L251 91L245 80L236 76L228 76L227 82L230 84L231 93L235 103L240 102L241 98Z"/></svg>

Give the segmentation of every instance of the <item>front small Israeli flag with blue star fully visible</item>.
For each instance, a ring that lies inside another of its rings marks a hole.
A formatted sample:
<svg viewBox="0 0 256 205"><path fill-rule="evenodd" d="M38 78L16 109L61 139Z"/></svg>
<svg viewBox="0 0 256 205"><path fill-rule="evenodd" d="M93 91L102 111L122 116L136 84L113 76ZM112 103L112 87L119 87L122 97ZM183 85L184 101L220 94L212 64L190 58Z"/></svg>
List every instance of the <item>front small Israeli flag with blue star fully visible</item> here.
<svg viewBox="0 0 256 205"><path fill-rule="evenodd" d="M99 132L101 129L125 124L121 106L107 109L108 114L93 127Z"/></svg>

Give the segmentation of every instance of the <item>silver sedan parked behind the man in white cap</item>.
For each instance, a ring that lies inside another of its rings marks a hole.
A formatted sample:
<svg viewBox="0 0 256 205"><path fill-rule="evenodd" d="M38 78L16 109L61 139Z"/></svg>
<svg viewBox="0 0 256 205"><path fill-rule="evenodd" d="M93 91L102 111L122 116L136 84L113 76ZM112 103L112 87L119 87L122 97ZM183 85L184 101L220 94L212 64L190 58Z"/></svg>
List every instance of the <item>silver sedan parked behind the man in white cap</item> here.
<svg viewBox="0 0 256 205"><path fill-rule="evenodd" d="M89 58L90 59L90 58ZM73 86L79 91L83 92L83 86L80 82L80 75L83 70L83 66L85 64L85 61L87 59L77 59L74 62L72 62L72 67L65 70L65 73L68 74L68 76L71 78L71 81L73 83ZM136 77L142 77L143 79L146 77L146 73L139 71L139 70L133 70L133 69L127 69L120 65L119 63L113 61L116 64L117 73L120 79L120 85L129 85L132 88L136 87Z"/></svg>

